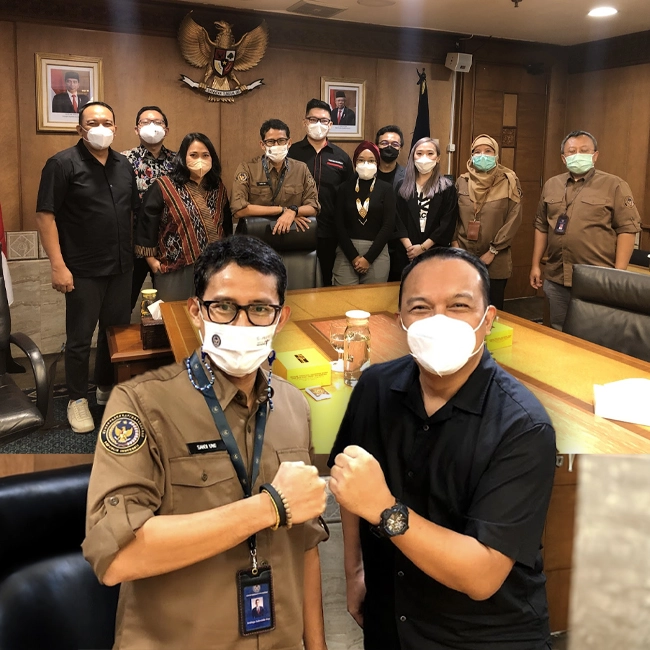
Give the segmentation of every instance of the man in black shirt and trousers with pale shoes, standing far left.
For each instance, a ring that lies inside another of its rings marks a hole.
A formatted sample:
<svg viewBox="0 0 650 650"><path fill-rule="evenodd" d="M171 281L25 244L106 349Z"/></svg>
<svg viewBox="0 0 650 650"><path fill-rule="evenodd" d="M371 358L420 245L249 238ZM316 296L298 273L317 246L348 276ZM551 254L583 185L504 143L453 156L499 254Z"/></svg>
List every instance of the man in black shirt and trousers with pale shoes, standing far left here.
<svg viewBox="0 0 650 650"><path fill-rule="evenodd" d="M43 168L36 219L52 287L66 299L68 421L76 433L88 433L95 428L87 399L90 344L99 321L95 382L97 403L106 404L113 385L106 328L130 319L131 216L139 198L131 163L110 148L113 109L86 104L77 133L79 142Z"/></svg>

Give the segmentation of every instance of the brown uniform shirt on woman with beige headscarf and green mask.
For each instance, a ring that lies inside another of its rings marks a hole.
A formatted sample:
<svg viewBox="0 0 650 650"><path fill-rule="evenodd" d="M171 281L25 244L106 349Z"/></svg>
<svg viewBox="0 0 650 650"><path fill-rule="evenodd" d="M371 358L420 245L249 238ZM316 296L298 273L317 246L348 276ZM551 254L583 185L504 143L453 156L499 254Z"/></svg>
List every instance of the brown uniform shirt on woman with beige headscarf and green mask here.
<svg viewBox="0 0 650 650"><path fill-rule="evenodd" d="M478 241L469 241L467 227L469 222L474 219L474 203L469 198L468 184L469 179L466 174L456 181L459 219L454 241L457 241L461 248L477 257L487 253L490 250L490 245L494 246L499 253L492 264L488 266L490 277L494 280L507 279L512 275L510 247L521 225L521 201L513 201L507 197L490 201L488 195L487 201L477 217L481 221ZM517 179L517 189L521 194L519 179Z"/></svg>

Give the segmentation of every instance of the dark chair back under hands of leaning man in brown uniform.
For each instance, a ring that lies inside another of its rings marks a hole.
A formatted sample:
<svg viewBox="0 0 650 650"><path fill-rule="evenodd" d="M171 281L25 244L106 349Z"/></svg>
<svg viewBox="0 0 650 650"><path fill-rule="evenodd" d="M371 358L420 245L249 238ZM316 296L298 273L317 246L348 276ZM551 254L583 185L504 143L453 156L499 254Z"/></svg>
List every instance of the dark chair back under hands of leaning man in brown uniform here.
<svg viewBox="0 0 650 650"><path fill-rule="evenodd" d="M287 268L288 289L313 289L322 286L316 256L316 217L309 219L309 229L301 232L295 224L285 235L273 235L275 219L246 217L246 234L257 237L275 249ZM237 232L241 232L238 228Z"/></svg>

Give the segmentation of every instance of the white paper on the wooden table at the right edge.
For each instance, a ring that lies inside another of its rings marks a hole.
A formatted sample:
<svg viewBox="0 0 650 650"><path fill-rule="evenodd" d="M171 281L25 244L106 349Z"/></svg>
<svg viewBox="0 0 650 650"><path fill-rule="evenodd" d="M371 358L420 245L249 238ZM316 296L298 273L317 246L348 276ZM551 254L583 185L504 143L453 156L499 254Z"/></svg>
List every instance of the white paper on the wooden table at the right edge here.
<svg viewBox="0 0 650 650"><path fill-rule="evenodd" d="M594 384L594 411L609 420L650 426L650 379Z"/></svg>

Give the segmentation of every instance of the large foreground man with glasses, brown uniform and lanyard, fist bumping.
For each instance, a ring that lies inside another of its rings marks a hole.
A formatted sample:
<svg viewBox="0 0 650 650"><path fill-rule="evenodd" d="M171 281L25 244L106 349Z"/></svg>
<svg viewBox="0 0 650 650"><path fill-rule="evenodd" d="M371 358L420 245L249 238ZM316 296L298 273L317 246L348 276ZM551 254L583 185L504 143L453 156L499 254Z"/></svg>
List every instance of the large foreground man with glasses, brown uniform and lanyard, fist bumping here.
<svg viewBox="0 0 650 650"><path fill-rule="evenodd" d="M260 369L289 318L286 282L260 240L214 242L188 300L201 350L113 390L83 551L101 582L122 583L115 650L326 648L317 545L327 534L315 519L325 487L310 463L309 406ZM273 580L256 586L265 565Z"/></svg>

